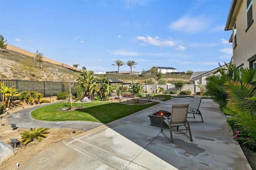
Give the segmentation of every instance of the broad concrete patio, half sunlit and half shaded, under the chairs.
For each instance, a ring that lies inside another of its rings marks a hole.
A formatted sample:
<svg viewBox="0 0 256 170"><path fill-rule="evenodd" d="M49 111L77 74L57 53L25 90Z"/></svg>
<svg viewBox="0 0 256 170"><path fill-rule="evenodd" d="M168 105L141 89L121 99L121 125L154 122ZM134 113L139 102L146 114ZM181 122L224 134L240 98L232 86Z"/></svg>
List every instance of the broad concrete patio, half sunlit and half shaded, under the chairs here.
<svg viewBox="0 0 256 170"><path fill-rule="evenodd" d="M204 123L190 123L193 142L174 134L174 143L170 143L160 133L160 127L150 126L150 113L191 101L192 98L174 98L98 126L48 147L19 169L250 170L225 116L212 100L203 99L200 105ZM168 129L164 133L168 135Z"/></svg>

